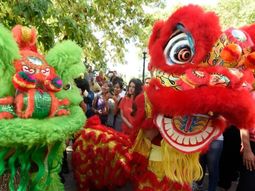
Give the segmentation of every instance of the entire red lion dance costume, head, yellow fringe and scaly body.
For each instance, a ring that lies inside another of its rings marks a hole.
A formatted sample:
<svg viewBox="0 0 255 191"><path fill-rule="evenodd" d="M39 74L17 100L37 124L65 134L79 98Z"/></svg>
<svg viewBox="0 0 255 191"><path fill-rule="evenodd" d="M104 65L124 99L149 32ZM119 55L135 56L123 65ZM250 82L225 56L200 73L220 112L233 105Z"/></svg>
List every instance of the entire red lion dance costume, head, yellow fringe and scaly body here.
<svg viewBox="0 0 255 191"><path fill-rule="evenodd" d="M228 124L253 128L255 26L221 31L198 6L156 22L149 41L153 78L136 99L134 142L90 119L74 144L80 190L186 191L202 174L199 155Z"/></svg>

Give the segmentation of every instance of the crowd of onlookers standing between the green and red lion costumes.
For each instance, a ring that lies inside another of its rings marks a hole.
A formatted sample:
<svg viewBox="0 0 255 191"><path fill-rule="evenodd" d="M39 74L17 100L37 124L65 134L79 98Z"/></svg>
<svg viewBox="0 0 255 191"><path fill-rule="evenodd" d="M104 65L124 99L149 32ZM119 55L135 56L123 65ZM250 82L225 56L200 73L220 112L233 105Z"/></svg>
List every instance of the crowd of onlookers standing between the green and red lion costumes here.
<svg viewBox="0 0 255 191"><path fill-rule="evenodd" d="M133 78L127 84L116 71L108 75L99 71L96 75L88 66L85 77L77 79L76 84L81 89L81 107L87 118L98 115L102 124L128 135L132 133L133 102L143 88L140 79Z"/></svg>

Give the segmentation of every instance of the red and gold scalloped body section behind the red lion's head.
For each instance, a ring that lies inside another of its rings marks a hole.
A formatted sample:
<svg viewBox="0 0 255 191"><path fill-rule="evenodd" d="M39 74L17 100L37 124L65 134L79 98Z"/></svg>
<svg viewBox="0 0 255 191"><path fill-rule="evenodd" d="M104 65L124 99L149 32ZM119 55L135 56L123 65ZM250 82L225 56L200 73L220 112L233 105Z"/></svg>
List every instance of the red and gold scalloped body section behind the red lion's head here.
<svg viewBox="0 0 255 191"><path fill-rule="evenodd" d="M98 117L89 119L86 126L73 145L74 176L79 189L123 185L131 171L128 137L101 125Z"/></svg>

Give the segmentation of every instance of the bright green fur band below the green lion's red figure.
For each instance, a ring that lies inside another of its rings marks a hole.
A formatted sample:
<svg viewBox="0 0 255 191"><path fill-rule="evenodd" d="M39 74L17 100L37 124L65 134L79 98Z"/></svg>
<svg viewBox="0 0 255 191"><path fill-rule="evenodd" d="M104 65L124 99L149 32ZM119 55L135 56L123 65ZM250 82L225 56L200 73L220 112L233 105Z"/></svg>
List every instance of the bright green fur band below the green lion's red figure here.
<svg viewBox="0 0 255 191"><path fill-rule="evenodd" d="M70 115L45 119L1 120L0 147L17 145L47 145L66 140L85 124L84 112L79 106L70 108Z"/></svg>

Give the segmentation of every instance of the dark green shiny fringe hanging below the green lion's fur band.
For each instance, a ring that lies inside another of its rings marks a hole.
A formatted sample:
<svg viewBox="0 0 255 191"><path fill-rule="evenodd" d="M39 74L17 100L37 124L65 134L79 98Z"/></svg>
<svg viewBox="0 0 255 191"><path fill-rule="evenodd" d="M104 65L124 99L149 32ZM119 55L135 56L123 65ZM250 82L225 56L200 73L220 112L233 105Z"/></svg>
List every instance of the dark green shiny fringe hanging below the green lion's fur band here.
<svg viewBox="0 0 255 191"><path fill-rule="evenodd" d="M58 177L63 151L64 142L31 148L21 146L15 150L0 148L2 187L10 191L63 191ZM6 175L9 176L7 179L4 178Z"/></svg>

